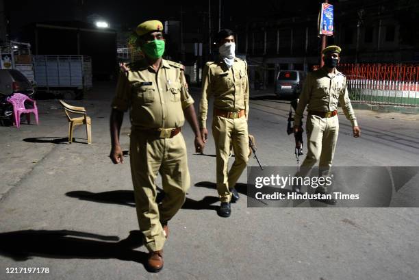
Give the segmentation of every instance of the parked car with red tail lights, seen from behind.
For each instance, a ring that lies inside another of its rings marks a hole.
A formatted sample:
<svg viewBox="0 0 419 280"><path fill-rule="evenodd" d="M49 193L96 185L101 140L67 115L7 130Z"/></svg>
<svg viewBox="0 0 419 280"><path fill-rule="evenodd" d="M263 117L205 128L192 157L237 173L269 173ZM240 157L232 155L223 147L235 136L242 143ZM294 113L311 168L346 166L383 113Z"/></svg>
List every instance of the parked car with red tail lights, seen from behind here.
<svg viewBox="0 0 419 280"><path fill-rule="evenodd" d="M278 73L275 94L279 97L298 98L303 88L306 74L297 70L281 70Z"/></svg>

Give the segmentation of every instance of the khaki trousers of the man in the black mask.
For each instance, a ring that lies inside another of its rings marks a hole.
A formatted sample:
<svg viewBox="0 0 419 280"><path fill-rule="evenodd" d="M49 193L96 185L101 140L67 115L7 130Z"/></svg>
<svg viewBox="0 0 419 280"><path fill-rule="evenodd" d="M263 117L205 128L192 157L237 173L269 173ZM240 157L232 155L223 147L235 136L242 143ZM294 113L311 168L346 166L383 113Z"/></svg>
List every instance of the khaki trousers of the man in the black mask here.
<svg viewBox="0 0 419 280"><path fill-rule="evenodd" d="M301 164L299 176L309 175L310 170L318 161L318 176L330 175L336 142L338 141L338 115L331 118L309 115L307 116L305 129L307 131L308 151L303 164ZM317 190L326 192L327 188L318 186Z"/></svg>

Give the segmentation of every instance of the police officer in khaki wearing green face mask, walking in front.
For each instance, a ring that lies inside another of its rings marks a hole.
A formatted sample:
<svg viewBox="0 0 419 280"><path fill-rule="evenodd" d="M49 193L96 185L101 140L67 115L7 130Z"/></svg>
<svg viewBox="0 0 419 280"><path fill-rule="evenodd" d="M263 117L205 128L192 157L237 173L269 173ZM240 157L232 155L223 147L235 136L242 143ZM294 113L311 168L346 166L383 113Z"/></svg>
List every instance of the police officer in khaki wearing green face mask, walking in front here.
<svg viewBox="0 0 419 280"><path fill-rule="evenodd" d="M112 101L110 130L114 164L123 163L119 132L123 114L130 109L130 164L136 209L144 245L149 249L148 268L163 268L167 222L180 209L190 187L186 144L181 134L184 119L195 133L196 152L203 150L192 97L181 64L162 59L163 25L146 21L136 34L144 59L121 71ZM162 176L164 199L157 205L155 179Z"/></svg>

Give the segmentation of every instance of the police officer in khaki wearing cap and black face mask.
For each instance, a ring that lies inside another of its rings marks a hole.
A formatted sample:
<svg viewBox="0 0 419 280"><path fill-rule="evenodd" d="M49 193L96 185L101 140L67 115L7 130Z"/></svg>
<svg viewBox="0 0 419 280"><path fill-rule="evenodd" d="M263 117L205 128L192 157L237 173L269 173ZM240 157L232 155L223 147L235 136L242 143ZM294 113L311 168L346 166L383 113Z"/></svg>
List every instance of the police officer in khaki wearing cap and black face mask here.
<svg viewBox="0 0 419 280"><path fill-rule="evenodd" d="M299 173L302 177L308 175L317 161L320 161L319 176L330 174L339 132L338 103L342 106L346 118L351 120L353 136L357 138L361 135L348 97L346 77L336 69L340 61L340 51L340 47L334 45L322 51L325 66L307 75L296 107L294 133L301 131L301 118L307 105L308 151ZM299 187L296 186L294 190L299 191ZM327 188L320 186L316 188L316 193L327 194ZM334 199L322 202L336 203Z"/></svg>

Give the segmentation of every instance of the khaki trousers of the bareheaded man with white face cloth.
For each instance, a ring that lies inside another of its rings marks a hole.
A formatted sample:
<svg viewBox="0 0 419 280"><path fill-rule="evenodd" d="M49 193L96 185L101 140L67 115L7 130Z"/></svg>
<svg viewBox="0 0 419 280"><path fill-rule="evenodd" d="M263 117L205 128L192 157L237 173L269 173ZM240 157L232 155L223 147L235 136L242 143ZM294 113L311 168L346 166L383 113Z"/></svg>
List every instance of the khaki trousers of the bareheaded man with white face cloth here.
<svg viewBox="0 0 419 280"><path fill-rule="evenodd" d="M231 188L242 175L249 162L249 133L247 120L241 118L224 118L215 116L212 121L212 135L216 147L217 191L221 202L231 200ZM234 162L229 168L230 144L233 145Z"/></svg>

